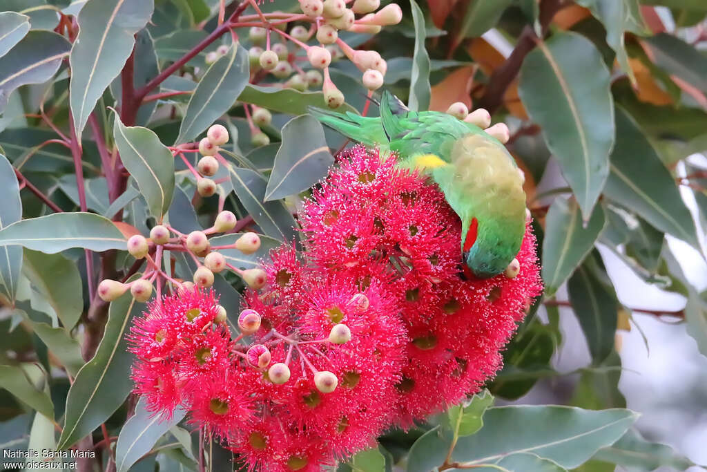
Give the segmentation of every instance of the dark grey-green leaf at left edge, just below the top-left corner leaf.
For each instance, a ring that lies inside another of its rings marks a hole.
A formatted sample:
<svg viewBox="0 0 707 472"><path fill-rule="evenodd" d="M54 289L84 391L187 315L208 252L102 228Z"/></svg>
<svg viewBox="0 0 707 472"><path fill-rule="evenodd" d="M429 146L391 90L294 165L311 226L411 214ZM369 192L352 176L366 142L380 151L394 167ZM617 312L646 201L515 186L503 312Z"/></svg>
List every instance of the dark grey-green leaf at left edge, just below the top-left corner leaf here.
<svg viewBox="0 0 707 472"><path fill-rule="evenodd" d="M0 113L10 93L26 84L42 84L52 78L69 54L71 44L52 31L30 31L0 57Z"/></svg>

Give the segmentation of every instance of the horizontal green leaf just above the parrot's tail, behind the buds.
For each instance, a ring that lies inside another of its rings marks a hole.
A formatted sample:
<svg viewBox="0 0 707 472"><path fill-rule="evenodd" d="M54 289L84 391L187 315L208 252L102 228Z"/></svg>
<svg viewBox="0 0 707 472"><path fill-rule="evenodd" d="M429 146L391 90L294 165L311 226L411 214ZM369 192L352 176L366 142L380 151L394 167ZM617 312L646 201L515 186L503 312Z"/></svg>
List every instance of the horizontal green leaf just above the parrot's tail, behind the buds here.
<svg viewBox="0 0 707 472"><path fill-rule="evenodd" d="M327 108L327 101L322 92L300 92L294 88L264 87L247 85L238 96L238 101L252 103L261 108L267 108L290 115L305 115L310 107ZM344 103L337 112L350 111L358 113L351 105Z"/></svg>

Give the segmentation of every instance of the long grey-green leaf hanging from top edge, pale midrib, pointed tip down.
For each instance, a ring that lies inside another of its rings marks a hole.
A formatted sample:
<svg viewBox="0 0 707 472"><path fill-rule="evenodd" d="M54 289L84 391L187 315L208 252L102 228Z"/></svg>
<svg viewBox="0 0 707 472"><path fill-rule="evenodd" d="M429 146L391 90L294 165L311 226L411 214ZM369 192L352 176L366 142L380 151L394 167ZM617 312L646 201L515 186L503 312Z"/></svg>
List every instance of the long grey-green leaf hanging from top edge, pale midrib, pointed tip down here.
<svg viewBox="0 0 707 472"><path fill-rule="evenodd" d="M153 0L88 0L78 13L78 36L71 48L69 104L81 139L88 115L132 53L134 35L144 28Z"/></svg>

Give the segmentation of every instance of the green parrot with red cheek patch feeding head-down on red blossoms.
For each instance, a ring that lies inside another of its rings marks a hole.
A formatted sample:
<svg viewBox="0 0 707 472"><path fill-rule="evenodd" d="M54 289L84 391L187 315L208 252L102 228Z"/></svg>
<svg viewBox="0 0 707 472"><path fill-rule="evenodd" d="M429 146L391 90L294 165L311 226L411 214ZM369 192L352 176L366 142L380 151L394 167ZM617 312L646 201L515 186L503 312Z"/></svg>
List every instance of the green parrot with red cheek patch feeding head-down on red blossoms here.
<svg viewBox="0 0 707 472"><path fill-rule="evenodd" d="M498 139L447 113L409 111L388 91L380 117L310 113L357 142L397 152L400 168L429 175L462 220L462 255L472 275L493 277L513 262L525 234L525 192Z"/></svg>

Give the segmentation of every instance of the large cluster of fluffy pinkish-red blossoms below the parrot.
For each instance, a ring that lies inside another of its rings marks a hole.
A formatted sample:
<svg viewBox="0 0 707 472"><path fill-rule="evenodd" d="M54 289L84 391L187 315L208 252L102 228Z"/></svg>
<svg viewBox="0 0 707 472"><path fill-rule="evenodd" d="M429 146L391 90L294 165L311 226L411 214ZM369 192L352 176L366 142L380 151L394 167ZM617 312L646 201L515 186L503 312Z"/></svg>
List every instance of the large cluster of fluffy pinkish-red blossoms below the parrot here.
<svg viewBox="0 0 707 472"><path fill-rule="evenodd" d="M362 147L300 223L305 251L271 254L238 338L198 291L154 304L132 330L136 391L150 408L185 405L250 470L320 470L478 391L541 290L530 229L517 276L465 280L460 222L443 195Z"/></svg>

